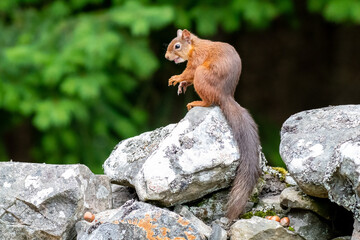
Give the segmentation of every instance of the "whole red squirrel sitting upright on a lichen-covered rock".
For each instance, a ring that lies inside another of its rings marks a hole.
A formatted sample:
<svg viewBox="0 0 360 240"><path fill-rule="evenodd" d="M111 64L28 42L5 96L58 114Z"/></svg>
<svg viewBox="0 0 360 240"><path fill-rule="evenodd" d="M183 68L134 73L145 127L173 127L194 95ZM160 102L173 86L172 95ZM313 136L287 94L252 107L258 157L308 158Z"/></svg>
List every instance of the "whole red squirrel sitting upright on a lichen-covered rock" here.
<svg viewBox="0 0 360 240"><path fill-rule="evenodd" d="M248 111L234 99L241 74L241 59L234 47L223 42L200 39L188 30L178 30L166 51L165 58L181 63L187 61L183 73L172 76L169 86L178 86L178 94L194 84L201 101L193 107L220 106L232 128L240 152L240 163L227 204L226 216L234 220L245 210L247 200L260 176L257 125Z"/></svg>

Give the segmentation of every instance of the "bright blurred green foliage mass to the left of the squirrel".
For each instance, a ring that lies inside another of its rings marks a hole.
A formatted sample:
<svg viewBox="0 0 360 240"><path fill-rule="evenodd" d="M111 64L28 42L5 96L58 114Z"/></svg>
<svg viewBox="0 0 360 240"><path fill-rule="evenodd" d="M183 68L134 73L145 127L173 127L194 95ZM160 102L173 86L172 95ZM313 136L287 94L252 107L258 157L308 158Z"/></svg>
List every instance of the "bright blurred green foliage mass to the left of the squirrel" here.
<svg viewBox="0 0 360 240"><path fill-rule="evenodd" d="M102 8L101 0L1 2L0 109L12 127L19 116L32 121L38 161L101 172L121 138L146 129L147 113L132 95L159 67L147 36L173 21L172 8L138 1Z"/></svg>

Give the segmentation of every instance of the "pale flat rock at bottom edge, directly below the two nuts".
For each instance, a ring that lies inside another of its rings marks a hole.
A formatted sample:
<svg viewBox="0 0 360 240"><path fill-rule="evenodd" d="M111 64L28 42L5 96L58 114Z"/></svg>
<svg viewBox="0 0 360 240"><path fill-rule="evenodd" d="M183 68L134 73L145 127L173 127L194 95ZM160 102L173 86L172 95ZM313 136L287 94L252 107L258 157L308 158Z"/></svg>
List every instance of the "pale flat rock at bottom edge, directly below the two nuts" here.
<svg viewBox="0 0 360 240"><path fill-rule="evenodd" d="M278 222L260 217L241 219L230 229L231 240L304 240L298 234L282 227Z"/></svg>

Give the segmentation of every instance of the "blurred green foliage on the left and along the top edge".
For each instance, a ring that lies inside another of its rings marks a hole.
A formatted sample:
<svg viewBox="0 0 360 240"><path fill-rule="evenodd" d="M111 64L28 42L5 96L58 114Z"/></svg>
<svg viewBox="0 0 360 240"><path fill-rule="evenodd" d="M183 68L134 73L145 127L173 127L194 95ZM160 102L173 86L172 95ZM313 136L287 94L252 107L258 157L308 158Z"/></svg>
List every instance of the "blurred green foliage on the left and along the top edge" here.
<svg viewBox="0 0 360 240"><path fill-rule="evenodd" d="M331 21L360 21L356 0L308 6ZM293 8L291 0L1 0L0 135L30 121L31 158L101 172L120 139L149 129L141 96L160 67L151 33L263 29ZM7 155L0 144L0 159Z"/></svg>

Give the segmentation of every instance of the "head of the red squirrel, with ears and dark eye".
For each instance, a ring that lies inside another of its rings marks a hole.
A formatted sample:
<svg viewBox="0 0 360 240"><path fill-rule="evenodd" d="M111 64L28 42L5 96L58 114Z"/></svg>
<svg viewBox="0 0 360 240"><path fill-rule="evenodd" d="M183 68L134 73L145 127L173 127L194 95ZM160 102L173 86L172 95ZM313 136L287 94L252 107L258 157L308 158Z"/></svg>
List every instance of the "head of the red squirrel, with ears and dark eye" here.
<svg viewBox="0 0 360 240"><path fill-rule="evenodd" d="M188 60L189 52L192 49L192 40L195 36L188 30L177 30L177 36L174 38L165 54L165 58L174 61L175 63L182 63Z"/></svg>

